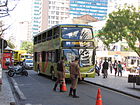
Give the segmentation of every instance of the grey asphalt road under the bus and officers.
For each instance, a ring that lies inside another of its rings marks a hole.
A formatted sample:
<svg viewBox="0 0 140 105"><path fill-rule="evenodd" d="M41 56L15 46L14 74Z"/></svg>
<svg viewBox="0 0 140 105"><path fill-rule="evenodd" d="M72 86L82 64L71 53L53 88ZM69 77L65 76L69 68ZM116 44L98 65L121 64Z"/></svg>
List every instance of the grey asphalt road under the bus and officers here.
<svg viewBox="0 0 140 105"><path fill-rule="evenodd" d="M77 94L80 98L68 96L68 92L54 92L52 90L55 81L45 76L38 76L36 72L30 70L29 76L14 76L19 89L26 99L20 99L19 104L32 105L95 105L98 88L101 89L103 105L140 105L140 100L133 97L117 93L93 84L80 82ZM67 82L69 90L70 83Z"/></svg>

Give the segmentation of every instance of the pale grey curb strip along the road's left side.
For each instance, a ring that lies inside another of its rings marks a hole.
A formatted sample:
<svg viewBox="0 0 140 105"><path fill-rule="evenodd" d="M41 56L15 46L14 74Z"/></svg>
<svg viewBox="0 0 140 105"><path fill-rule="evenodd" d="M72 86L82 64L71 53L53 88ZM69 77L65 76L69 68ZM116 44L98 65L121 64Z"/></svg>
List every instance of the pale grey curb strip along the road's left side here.
<svg viewBox="0 0 140 105"><path fill-rule="evenodd" d="M17 82L12 77L10 77L9 79L10 79L12 86L13 86L15 92L17 93L19 99L26 100L27 98L24 96L23 92L19 89Z"/></svg>

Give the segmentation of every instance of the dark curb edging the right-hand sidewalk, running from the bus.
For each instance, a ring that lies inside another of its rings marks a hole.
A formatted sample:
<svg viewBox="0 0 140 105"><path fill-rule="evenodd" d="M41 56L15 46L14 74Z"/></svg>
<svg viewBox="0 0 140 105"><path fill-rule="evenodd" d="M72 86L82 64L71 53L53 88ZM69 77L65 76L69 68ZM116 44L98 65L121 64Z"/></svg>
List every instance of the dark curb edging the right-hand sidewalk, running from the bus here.
<svg viewBox="0 0 140 105"><path fill-rule="evenodd" d="M111 87L104 86L104 85L101 85L101 84L98 84L98 83L94 83L94 82L90 82L90 81L87 81L87 80L84 80L84 81L87 82L87 83L90 83L90 84L101 86L101 87L104 87L104 88L107 88L107 89L110 89L110 90L113 90L113 91L117 91L119 93L123 93L123 94L128 95L128 96L140 99L139 96L136 96L136 95L133 95L133 94L130 94L130 93L127 93L127 92L124 92L124 91L121 91L121 90L118 90L118 89L115 89L115 88L111 88Z"/></svg>

